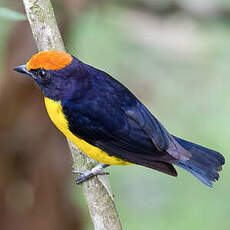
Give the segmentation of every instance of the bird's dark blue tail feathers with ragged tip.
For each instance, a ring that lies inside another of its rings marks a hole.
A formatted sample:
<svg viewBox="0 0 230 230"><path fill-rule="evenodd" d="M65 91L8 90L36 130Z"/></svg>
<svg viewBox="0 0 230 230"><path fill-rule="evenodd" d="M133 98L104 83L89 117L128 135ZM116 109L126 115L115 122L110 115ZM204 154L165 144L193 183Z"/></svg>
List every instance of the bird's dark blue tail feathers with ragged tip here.
<svg viewBox="0 0 230 230"><path fill-rule="evenodd" d="M219 179L218 172L221 171L221 166L225 163L224 157L211 149L178 137L175 139L192 154L188 161L179 161L175 165L187 170L201 182L212 187L213 182Z"/></svg>

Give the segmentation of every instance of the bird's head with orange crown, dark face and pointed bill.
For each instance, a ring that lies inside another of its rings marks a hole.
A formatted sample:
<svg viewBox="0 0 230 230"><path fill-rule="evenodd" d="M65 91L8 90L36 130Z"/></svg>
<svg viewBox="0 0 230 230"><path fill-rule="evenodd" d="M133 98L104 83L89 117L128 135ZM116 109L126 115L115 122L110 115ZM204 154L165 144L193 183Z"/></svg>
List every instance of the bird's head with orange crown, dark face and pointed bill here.
<svg viewBox="0 0 230 230"><path fill-rule="evenodd" d="M73 91L79 70L79 60L61 51L42 51L15 71L31 77L46 97L61 100Z"/></svg>

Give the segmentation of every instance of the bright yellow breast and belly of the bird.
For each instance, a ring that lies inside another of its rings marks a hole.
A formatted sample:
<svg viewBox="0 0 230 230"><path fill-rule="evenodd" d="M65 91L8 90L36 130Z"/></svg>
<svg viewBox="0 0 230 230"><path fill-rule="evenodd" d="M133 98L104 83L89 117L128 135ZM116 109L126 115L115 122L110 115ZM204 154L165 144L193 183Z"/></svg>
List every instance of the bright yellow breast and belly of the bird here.
<svg viewBox="0 0 230 230"><path fill-rule="evenodd" d="M129 162L123 161L117 157L109 156L103 150L88 144L83 139L76 137L70 130L68 126L68 121L66 120L62 106L60 102L55 102L47 97L45 97L45 105L47 112L57 126L57 128L71 141L73 142L81 151L87 154L92 159L99 161L104 164L109 165L128 165Z"/></svg>

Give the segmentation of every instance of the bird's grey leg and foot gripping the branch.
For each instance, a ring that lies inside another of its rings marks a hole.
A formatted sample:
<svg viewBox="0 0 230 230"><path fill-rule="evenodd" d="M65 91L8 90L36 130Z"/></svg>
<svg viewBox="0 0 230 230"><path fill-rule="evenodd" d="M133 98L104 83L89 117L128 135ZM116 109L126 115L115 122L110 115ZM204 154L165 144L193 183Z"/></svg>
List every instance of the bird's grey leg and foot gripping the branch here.
<svg viewBox="0 0 230 230"><path fill-rule="evenodd" d="M105 175L105 174L109 174L107 172L104 171L104 169L106 167L108 167L109 165L107 164L98 164L96 165L94 168L92 168L91 170L87 170L85 172L81 172L78 170L73 170L73 173L77 173L77 174L81 174L81 176L79 176L76 180L76 184L81 184L82 182L88 180L90 177L93 176L97 176L97 175Z"/></svg>

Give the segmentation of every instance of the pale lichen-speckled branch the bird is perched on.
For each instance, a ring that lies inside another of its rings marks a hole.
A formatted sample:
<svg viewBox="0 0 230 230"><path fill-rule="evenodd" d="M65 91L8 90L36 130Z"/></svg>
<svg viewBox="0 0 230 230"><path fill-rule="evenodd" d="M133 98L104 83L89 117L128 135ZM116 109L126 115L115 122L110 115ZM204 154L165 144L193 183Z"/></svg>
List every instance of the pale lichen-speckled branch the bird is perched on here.
<svg viewBox="0 0 230 230"><path fill-rule="evenodd" d="M38 50L65 51L50 0L23 2ZM74 169L85 171L97 164L69 140L68 143ZM107 175L89 179L82 184L82 188L95 230L121 230Z"/></svg>

